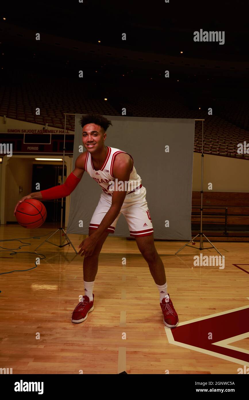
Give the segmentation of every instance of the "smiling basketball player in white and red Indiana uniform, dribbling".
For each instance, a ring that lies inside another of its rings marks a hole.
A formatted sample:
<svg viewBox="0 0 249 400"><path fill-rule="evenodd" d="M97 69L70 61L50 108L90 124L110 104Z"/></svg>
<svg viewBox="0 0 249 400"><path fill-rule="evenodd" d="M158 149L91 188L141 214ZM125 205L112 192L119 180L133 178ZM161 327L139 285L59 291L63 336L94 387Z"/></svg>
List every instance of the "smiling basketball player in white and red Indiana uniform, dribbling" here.
<svg viewBox="0 0 249 400"><path fill-rule="evenodd" d="M103 190L89 225L89 237L79 245L78 254L85 256L83 262L85 296L75 307L72 322L85 321L88 312L93 311L93 286L98 270L99 253L109 233L115 232L122 213L128 223L130 236L136 239L138 249L148 263L158 288L164 324L168 328L174 328L178 324L178 315L168 294L164 265L154 246L146 189L136 172L133 158L122 150L105 146L106 131L112 125L107 118L99 114L89 114L81 118L80 124L83 128L82 142L87 151L76 159L75 169L65 183L31 193L20 200L20 202L28 198L50 200L69 196L85 171ZM111 182L118 182L119 186Z"/></svg>

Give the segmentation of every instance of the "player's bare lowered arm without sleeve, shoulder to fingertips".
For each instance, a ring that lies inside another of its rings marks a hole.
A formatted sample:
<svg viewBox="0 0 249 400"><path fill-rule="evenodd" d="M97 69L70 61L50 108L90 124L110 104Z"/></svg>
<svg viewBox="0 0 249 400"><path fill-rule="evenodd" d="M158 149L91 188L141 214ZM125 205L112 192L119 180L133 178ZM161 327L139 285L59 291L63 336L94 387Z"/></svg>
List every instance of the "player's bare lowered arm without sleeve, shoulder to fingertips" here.
<svg viewBox="0 0 249 400"><path fill-rule="evenodd" d="M128 154L120 153L115 158L115 162L113 165L113 176L115 179L118 180L118 182L124 183L123 185L124 189L126 188L125 181L126 182L129 181L130 170L132 168L132 165L133 165L132 159ZM91 236L83 240L83 242L81 242L81 244L79 245L81 249L79 250L78 254L82 253L81 256L83 255L91 256L96 246L96 243L103 234L103 232L105 232L105 230L109 228L109 226L119 215L122 204L124 202L124 198L126 196L126 192L127 190L124 190L123 192L119 190L113 191L111 207L105 214L103 220L101 221L101 224L95 230L95 232L91 234Z"/></svg>

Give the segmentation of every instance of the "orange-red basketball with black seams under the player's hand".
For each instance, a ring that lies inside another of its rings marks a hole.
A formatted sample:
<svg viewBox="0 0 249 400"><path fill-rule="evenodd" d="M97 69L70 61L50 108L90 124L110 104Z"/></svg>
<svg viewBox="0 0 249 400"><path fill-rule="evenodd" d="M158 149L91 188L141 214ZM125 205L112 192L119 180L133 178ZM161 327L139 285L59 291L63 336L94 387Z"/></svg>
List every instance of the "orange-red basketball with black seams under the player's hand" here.
<svg viewBox="0 0 249 400"><path fill-rule="evenodd" d="M16 209L16 219L23 228L39 228L45 222L47 211L39 200L26 199Z"/></svg>

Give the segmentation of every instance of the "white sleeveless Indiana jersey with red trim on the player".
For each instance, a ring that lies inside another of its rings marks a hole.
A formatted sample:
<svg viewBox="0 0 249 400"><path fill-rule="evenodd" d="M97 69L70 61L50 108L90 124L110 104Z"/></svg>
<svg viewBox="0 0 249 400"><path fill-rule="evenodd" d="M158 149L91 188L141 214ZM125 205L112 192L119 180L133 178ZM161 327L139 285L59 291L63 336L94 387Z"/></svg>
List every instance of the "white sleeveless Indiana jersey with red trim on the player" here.
<svg viewBox="0 0 249 400"><path fill-rule="evenodd" d="M117 156L117 154L120 153L125 153L125 154L128 153L109 146L107 146L107 149L108 149L107 156L105 158L103 166L99 170L94 169L93 160L89 152L87 152L87 156L85 159L85 167L84 167L85 171L99 184L99 186L101 186L103 192L112 196L113 190L122 190L122 191L124 190L127 192L126 193L127 195L136 191L136 189L142 188L141 178L136 173L134 165L130 170L129 181L126 182L125 186L122 186L121 184L122 182L119 183L117 182L117 180L115 180L115 178L113 177L113 164L115 157ZM132 158L130 154L129 156ZM118 185L120 189L118 189Z"/></svg>

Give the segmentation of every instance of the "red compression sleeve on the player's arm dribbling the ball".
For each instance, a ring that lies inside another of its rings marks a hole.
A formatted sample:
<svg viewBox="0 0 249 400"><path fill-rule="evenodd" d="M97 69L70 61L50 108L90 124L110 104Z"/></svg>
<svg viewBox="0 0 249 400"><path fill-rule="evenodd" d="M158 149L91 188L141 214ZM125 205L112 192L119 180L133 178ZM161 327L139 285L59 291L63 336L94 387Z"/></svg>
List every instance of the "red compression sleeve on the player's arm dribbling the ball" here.
<svg viewBox="0 0 249 400"><path fill-rule="evenodd" d="M77 178L77 176L71 172L63 185L53 186L53 188L41 190L41 200L52 200L69 196L69 194L76 188L79 181L80 178Z"/></svg>

